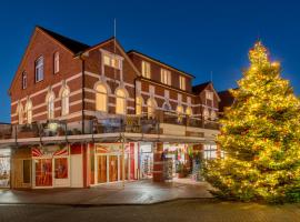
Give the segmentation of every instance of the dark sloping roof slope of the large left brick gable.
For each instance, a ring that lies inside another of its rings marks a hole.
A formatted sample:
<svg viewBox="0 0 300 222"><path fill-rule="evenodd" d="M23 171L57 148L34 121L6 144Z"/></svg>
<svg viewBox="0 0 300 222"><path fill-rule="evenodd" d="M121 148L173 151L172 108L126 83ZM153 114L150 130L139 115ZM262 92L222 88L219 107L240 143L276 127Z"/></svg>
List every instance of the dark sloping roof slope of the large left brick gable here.
<svg viewBox="0 0 300 222"><path fill-rule="evenodd" d="M37 28L42 30L43 32L46 32L47 34L52 37L53 39L56 39L58 42L60 42L62 46L68 48L74 54L90 48L90 46L88 46L86 43L82 43L82 42L79 42L77 40L70 39L68 37L61 36L61 34L59 34L57 32L53 32L53 31L51 31L49 29L46 29L43 27L37 27Z"/></svg>

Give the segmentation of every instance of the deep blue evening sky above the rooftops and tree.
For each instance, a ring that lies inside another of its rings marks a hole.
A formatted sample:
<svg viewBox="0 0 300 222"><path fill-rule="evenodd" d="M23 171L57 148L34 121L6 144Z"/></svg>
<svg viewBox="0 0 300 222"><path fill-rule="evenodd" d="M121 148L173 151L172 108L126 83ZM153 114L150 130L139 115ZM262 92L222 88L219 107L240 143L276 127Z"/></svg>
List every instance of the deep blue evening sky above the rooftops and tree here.
<svg viewBox="0 0 300 222"><path fill-rule="evenodd" d="M88 44L113 34L136 49L197 77L218 91L234 88L260 38L300 94L300 3L297 1L1 1L0 121L10 121L8 89L36 24Z"/></svg>

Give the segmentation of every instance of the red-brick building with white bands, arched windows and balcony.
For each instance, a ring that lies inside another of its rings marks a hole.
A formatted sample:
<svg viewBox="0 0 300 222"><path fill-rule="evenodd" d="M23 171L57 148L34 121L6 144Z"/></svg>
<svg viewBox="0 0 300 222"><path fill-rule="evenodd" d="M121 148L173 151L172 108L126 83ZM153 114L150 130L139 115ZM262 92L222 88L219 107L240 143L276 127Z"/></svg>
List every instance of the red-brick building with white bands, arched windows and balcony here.
<svg viewBox="0 0 300 222"><path fill-rule="evenodd" d="M0 186L199 180L201 160L220 155L220 98L193 79L116 38L90 47L37 27L0 124Z"/></svg>

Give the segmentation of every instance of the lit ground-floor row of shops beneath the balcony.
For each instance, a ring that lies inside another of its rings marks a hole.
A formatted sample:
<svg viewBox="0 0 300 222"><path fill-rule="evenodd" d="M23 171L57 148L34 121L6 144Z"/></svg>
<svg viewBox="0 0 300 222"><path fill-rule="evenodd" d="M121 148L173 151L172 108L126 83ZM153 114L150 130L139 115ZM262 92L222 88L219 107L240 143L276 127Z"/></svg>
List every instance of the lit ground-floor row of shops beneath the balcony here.
<svg viewBox="0 0 300 222"><path fill-rule="evenodd" d="M0 150L0 186L89 188L130 180L201 180L216 144L167 142L57 143Z"/></svg>

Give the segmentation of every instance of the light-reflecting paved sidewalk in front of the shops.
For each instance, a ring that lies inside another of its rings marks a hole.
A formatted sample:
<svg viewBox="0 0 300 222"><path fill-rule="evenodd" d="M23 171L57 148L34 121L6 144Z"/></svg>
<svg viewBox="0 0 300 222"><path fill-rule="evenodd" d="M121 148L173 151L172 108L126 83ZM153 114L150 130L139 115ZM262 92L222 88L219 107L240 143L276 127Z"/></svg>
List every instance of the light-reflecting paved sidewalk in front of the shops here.
<svg viewBox="0 0 300 222"><path fill-rule="evenodd" d="M211 199L208 183L147 181L99 185L91 189L0 190L0 204L114 205L152 204L178 199Z"/></svg>

